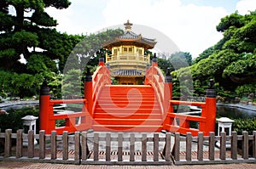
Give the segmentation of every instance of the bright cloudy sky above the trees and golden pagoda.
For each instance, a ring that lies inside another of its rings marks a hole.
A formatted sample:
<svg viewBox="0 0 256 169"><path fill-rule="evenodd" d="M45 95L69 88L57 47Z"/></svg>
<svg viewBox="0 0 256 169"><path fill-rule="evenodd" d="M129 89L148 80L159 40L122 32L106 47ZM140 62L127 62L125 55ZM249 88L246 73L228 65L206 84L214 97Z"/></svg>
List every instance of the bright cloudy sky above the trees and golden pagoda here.
<svg viewBox="0 0 256 169"><path fill-rule="evenodd" d="M57 31L89 35L113 25L124 29L123 24L130 20L135 27L147 26L148 32L139 29L135 31L137 34L147 37L151 31L159 31L160 36L168 37L180 51L189 52L193 58L223 37L216 31L221 18L236 10L239 14L247 14L256 9L256 0L70 1L72 4L67 9L46 8L46 12L58 21ZM172 53L168 51L170 41L162 37L154 37L156 42L166 45L159 48L160 52Z"/></svg>

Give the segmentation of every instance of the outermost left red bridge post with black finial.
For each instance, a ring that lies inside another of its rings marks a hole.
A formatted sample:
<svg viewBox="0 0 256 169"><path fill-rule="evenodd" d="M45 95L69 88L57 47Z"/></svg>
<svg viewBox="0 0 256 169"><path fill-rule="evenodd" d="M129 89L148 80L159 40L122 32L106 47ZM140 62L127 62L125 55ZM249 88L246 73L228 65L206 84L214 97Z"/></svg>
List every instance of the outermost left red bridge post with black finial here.
<svg viewBox="0 0 256 169"><path fill-rule="evenodd" d="M39 98L39 129L45 130L46 134L50 134L52 126L51 121L49 121L49 114L49 87L47 86L47 83L44 81L40 89Z"/></svg>

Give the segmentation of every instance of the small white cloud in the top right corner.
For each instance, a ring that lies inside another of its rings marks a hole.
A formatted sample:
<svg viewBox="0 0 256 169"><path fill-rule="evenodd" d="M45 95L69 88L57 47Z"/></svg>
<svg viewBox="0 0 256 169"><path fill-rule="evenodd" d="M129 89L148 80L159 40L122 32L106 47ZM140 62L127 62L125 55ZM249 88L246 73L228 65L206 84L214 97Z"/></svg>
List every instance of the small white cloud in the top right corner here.
<svg viewBox="0 0 256 169"><path fill-rule="evenodd" d="M256 0L241 0L236 3L236 10L239 14L247 14L248 11L254 11L256 9Z"/></svg>

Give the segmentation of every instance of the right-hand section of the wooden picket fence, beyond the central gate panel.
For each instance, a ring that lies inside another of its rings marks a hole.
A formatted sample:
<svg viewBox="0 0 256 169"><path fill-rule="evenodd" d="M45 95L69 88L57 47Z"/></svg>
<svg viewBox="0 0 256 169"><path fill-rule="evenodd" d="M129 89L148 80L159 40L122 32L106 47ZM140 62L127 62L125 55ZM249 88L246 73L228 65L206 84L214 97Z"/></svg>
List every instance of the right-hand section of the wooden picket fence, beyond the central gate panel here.
<svg viewBox="0 0 256 169"><path fill-rule="evenodd" d="M176 165L256 162L256 132L253 132L253 135L248 135L248 132L242 132L242 135L232 132L231 136L227 136L225 132L221 132L220 136L215 136L214 132L203 136L203 133L199 132L195 137L192 137L191 132L185 137L176 132L174 137L172 157ZM215 147L216 142L220 143L219 149ZM238 142L241 142L241 154L238 154ZM192 143L197 145L195 155L191 149ZM204 146L204 143L207 146ZM184 154L180 150L181 144L186 147ZM227 150L226 144L230 144L230 150ZM249 149L252 154L249 154Z"/></svg>

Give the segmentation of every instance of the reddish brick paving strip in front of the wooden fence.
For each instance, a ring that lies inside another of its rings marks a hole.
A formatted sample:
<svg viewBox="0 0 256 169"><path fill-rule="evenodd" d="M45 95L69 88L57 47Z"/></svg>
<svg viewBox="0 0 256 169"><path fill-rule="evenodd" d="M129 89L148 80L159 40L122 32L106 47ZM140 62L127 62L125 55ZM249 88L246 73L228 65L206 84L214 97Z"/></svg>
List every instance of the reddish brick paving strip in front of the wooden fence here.
<svg viewBox="0 0 256 169"><path fill-rule="evenodd" d="M26 169L43 169L43 168L59 168L59 169L73 169L73 168L102 168L102 169L150 169L150 168L165 168L165 169L172 169L172 168L180 168L180 169L189 169L189 168L196 168L196 169L205 169L205 168L229 168L229 169L244 169L244 168L256 168L256 164L228 164L228 165L190 165L190 166L96 166L96 165L63 165L63 164L50 164L50 163L32 163L32 162L18 162L18 161L0 161L0 168L26 168Z"/></svg>

